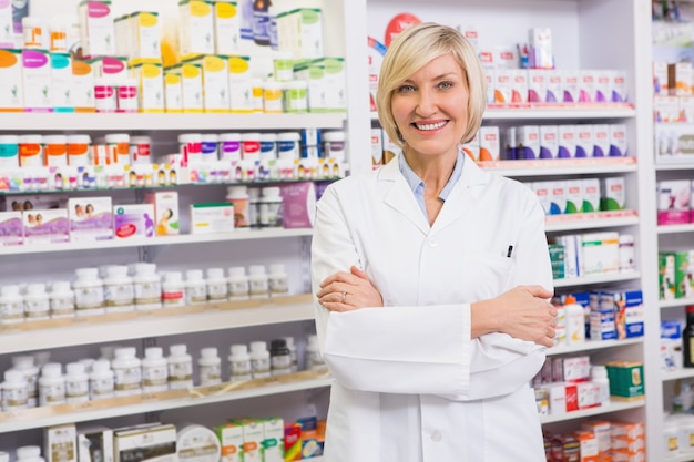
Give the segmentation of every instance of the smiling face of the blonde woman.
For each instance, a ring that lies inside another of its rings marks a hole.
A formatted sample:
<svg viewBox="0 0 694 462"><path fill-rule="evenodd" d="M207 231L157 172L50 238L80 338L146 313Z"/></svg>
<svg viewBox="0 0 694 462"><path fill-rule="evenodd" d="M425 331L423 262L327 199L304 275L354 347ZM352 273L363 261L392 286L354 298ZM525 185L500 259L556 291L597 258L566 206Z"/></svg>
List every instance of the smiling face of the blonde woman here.
<svg viewBox="0 0 694 462"><path fill-rule="evenodd" d="M429 61L410 75L390 101L407 152L457 155L468 127L469 96L466 76L451 53Z"/></svg>

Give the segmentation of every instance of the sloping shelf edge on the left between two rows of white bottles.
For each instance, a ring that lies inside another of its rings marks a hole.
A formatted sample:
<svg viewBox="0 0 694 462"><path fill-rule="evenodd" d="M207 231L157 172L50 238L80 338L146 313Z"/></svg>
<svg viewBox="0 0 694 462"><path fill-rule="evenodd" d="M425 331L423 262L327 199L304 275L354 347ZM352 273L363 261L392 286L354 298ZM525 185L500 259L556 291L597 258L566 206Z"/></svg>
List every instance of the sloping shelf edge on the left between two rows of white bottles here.
<svg viewBox="0 0 694 462"><path fill-rule="evenodd" d="M0 326L3 355L314 319L312 295Z"/></svg>

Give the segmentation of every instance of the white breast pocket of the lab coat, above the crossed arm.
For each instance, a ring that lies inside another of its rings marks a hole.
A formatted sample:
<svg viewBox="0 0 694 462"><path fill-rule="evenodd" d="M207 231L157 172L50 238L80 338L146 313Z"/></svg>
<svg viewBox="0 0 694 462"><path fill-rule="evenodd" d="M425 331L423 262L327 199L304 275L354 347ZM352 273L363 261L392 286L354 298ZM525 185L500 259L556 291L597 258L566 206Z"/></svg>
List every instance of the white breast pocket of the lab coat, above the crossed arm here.
<svg viewBox="0 0 694 462"><path fill-rule="evenodd" d="M472 301L497 297L507 290L513 259L500 255L467 251L462 256L461 281Z"/></svg>

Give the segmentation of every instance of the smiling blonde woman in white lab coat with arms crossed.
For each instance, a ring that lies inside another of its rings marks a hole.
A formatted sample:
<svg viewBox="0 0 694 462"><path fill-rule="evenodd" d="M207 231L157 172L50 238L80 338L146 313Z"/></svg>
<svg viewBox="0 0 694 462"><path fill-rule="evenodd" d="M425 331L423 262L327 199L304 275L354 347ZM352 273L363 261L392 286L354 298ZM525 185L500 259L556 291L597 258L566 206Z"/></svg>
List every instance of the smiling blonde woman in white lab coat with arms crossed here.
<svg viewBox="0 0 694 462"><path fill-rule="evenodd" d="M486 99L455 29L402 32L384 59L378 115L402 155L318 203L312 280L336 379L329 462L544 461L528 382L557 310L544 213L459 145Z"/></svg>

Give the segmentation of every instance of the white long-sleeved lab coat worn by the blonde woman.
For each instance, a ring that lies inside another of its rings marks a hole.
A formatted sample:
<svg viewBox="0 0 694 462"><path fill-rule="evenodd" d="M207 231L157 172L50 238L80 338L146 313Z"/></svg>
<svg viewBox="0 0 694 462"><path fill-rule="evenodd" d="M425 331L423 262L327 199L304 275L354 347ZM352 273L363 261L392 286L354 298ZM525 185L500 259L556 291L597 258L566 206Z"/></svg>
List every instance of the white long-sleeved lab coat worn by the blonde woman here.
<svg viewBox="0 0 694 462"><path fill-rule="evenodd" d="M314 292L356 265L384 298L345 314L316 302L336 378L326 462L544 461L528 382L545 349L503 333L471 340L469 310L518 285L552 288L544 213L529 188L467 160L429 226L398 162L318 202Z"/></svg>

